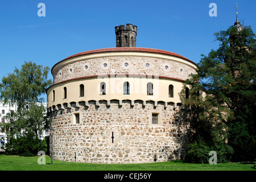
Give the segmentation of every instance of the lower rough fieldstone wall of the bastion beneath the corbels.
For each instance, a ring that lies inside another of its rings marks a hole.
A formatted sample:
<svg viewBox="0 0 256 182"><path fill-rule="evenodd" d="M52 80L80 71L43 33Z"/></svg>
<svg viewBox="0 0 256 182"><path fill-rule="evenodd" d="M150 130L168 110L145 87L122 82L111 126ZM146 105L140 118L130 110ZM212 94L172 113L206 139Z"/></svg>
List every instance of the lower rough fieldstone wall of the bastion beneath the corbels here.
<svg viewBox="0 0 256 182"><path fill-rule="evenodd" d="M171 103L89 101L58 105L49 112L57 160L154 163L185 155L189 123ZM79 114L79 124L74 124L74 113ZM158 114L157 125L152 124L152 113Z"/></svg>

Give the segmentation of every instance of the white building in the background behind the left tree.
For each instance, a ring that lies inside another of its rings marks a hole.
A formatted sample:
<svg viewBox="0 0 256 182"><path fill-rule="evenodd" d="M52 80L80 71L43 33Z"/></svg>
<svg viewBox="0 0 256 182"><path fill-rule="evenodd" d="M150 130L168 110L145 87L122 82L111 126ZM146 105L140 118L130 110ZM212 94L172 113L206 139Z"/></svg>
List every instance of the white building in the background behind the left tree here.
<svg viewBox="0 0 256 182"><path fill-rule="evenodd" d="M43 106L45 107L45 111L46 111L47 104L43 103ZM3 101L0 100L0 114L1 114L0 122L1 123L10 122L9 120L11 120L11 119L7 119L6 115L7 115L7 113L11 113L11 112L14 112L16 110L17 110L17 105L4 104ZM42 140L47 135L49 135L49 130L43 131L42 135L39 136L38 138L40 140ZM7 136L6 136L6 133L5 133L5 129L3 127L0 128L0 142L1 142L0 152L5 151L5 144L7 143Z"/></svg>

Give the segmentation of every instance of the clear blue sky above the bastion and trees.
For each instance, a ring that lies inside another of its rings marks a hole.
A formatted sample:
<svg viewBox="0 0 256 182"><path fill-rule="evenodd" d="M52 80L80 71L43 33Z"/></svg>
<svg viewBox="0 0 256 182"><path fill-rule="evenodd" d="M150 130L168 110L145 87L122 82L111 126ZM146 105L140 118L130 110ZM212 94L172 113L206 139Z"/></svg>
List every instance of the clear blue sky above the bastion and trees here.
<svg viewBox="0 0 256 182"><path fill-rule="evenodd" d="M37 14L38 3L45 3L45 17ZM210 3L216 3L217 16L209 16ZM52 68L75 53L115 47L114 27L126 23L138 27L137 47L199 63L202 53L218 47L214 32L234 24L236 3L239 20L256 32L255 0L0 0L0 78L24 61Z"/></svg>

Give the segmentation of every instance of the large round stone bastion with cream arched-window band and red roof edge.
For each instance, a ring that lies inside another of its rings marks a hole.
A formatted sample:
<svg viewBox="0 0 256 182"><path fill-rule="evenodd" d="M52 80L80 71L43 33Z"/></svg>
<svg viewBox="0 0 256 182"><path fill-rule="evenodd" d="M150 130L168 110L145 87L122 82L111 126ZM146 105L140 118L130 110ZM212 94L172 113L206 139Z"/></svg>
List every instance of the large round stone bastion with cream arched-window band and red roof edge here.
<svg viewBox="0 0 256 182"><path fill-rule="evenodd" d="M137 47L59 61L46 90L53 158L120 164L183 159L190 126L179 93L196 68L177 53Z"/></svg>

